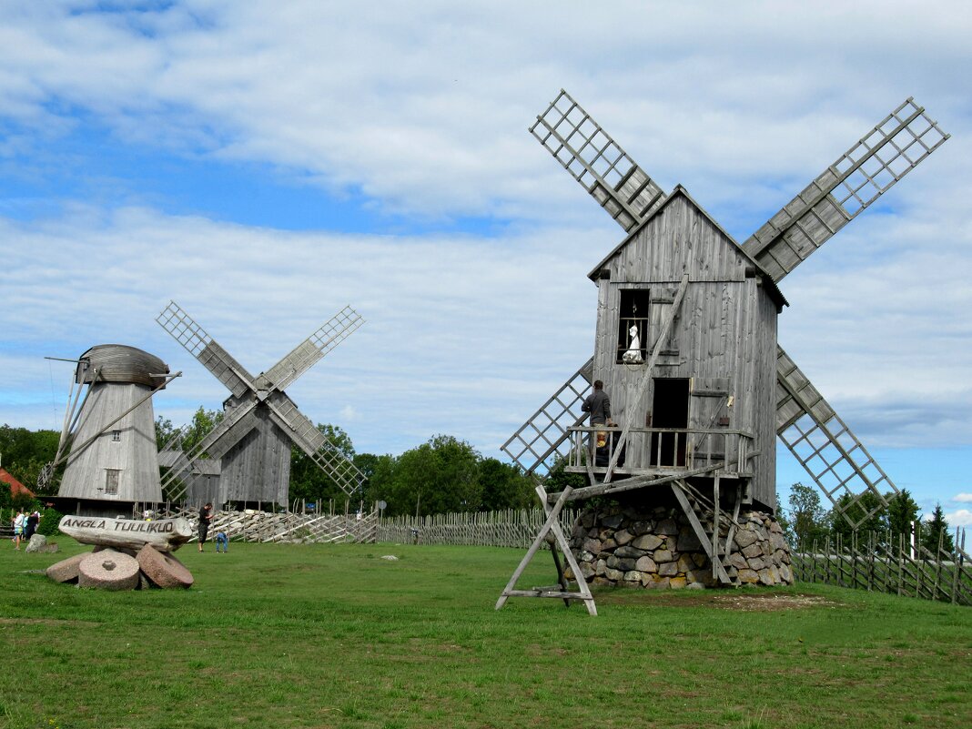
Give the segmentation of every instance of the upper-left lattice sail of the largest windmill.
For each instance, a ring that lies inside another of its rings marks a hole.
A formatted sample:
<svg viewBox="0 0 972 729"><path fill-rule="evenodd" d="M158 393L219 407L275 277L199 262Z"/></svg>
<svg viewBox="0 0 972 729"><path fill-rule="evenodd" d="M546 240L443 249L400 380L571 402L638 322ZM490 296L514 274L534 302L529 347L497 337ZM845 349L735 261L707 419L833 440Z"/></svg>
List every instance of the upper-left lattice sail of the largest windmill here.
<svg viewBox="0 0 972 729"><path fill-rule="evenodd" d="M655 181L564 89L530 133L626 231L665 201Z"/></svg>

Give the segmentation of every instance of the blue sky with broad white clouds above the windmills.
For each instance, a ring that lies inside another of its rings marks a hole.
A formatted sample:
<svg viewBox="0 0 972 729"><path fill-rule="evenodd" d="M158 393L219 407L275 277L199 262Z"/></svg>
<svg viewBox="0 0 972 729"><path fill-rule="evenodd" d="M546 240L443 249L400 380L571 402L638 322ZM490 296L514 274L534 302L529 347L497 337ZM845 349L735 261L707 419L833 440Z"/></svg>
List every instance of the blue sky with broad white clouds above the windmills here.
<svg viewBox="0 0 972 729"><path fill-rule="evenodd" d="M929 9L930 8L930 9ZM972 10L938 2L0 0L0 422L176 300L359 452L499 447L589 356L620 229L527 132L567 88L737 240L908 96L953 136L782 282L780 341L925 510L972 524ZM781 458L781 487L810 482Z"/></svg>

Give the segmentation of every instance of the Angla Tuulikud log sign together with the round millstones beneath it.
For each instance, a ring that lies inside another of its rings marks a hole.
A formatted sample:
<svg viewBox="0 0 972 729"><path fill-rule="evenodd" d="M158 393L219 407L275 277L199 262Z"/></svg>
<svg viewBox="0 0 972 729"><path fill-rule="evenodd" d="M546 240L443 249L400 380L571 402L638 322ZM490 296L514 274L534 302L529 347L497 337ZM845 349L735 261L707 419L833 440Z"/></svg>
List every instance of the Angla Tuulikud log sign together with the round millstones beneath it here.
<svg viewBox="0 0 972 729"><path fill-rule="evenodd" d="M102 590L191 587L192 574L171 552L191 537L185 519L135 522L65 516L60 530L94 550L48 568L55 582ZM151 543L149 543L151 542Z"/></svg>

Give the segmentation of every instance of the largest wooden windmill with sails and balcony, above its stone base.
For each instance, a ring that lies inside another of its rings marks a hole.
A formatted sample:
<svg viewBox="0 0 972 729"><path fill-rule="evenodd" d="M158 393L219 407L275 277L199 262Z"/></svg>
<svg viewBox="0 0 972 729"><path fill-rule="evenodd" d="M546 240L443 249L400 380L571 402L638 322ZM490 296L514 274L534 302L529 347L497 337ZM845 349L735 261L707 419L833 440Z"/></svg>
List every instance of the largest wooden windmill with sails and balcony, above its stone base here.
<svg viewBox="0 0 972 729"><path fill-rule="evenodd" d="M566 91L531 132L627 235L588 274L594 357L503 445L517 464L586 473L568 501L671 485L693 526L706 515L691 496L708 493L716 525L696 531L716 571L720 506L776 508L777 436L853 526L863 494L896 491L778 345L777 285L948 138L920 106L906 100L742 244L680 186L662 191ZM582 425L596 379L614 427Z"/></svg>

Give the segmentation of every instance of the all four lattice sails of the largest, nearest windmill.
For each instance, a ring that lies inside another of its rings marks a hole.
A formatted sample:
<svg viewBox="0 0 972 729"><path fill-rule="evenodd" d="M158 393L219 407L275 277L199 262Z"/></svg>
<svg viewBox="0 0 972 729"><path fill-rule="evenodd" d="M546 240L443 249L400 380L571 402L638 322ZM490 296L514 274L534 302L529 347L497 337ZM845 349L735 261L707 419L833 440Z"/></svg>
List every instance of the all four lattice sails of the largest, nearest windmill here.
<svg viewBox="0 0 972 729"><path fill-rule="evenodd" d="M626 232L638 230L670 197L566 91L530 131ZM743 254L757 264L753 275L765 276L771 287L781 281L948 138L906 99L742 244ZM596 268L592 274L597 273ZM656 344L663 355L663 342ZM543 471L569 457L570 429L583 420L580 404L593 365L583 364L503 445L523 469ZM650 369L650 363L645 366ZM777 435L856 527L870 515L861 496L870 492L884 503L885 491L896 492L894 484L779 346L776 383ZM606 480L616 466L615 455Z"/></svg>

